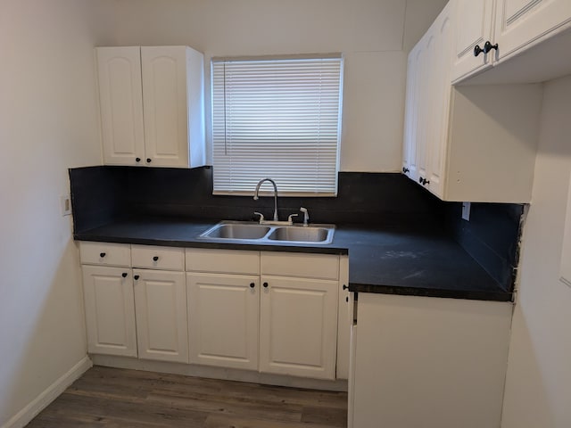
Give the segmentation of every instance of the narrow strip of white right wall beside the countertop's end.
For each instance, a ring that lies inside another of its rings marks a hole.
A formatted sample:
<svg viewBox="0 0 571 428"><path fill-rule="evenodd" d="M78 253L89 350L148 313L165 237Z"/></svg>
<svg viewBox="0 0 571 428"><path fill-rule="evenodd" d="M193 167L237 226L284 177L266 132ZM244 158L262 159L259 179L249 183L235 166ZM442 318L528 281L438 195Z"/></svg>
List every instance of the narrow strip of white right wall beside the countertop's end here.
<svg viewBox="0 0 571 428"><path fill-rule="evenodd" d="M502 428L571 426L571 288L559 260L571 172L571 77L546 84Z"/></svg>

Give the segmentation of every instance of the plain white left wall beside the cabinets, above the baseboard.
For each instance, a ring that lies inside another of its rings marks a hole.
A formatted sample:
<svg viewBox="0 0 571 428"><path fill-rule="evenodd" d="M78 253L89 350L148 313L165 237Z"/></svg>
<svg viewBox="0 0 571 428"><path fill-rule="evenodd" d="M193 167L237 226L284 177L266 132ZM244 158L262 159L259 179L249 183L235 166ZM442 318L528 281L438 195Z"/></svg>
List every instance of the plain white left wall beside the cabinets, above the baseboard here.
<svg viewBox="0 0 571 428"><path fill-rule="evenodd" d="M91 0L0 1L0 426L87 355L60 194L101 162Z"/></svg>

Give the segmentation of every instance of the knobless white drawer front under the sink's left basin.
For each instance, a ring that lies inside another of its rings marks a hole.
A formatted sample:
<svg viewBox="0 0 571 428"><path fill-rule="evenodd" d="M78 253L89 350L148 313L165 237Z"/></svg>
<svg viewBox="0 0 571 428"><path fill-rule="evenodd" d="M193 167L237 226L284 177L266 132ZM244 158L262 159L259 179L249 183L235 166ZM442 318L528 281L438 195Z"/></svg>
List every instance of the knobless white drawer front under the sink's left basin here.
<svg viewBox="0 0 571 428"><path fill-rule="evenodd" d="M260 252L187 248L186 270L260 275Z"/></svg>

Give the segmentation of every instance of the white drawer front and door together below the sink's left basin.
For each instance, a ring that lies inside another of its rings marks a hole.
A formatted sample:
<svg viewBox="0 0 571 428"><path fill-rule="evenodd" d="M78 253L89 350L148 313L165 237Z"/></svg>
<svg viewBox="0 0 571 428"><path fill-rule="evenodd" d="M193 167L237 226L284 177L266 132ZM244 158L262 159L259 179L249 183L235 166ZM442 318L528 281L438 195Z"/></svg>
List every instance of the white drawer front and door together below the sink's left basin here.
<svg viewBox="0 0 571 428"><path fill-rule="evenodd" d="M258 369L260 253L186 250L190 362Z"/></svg>

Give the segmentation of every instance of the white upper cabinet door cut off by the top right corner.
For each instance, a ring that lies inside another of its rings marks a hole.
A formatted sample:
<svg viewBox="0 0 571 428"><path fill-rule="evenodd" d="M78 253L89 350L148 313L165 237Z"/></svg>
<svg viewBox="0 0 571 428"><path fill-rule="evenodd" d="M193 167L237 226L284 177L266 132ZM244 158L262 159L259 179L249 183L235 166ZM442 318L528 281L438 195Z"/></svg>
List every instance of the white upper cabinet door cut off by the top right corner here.
<svg viewBox="0 0 571 428"><path fill-rule="evenodd" d="M501 59L571 22L569 0L496 1L495 43Z"/></svg>

